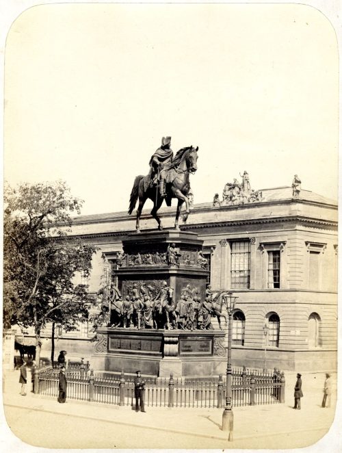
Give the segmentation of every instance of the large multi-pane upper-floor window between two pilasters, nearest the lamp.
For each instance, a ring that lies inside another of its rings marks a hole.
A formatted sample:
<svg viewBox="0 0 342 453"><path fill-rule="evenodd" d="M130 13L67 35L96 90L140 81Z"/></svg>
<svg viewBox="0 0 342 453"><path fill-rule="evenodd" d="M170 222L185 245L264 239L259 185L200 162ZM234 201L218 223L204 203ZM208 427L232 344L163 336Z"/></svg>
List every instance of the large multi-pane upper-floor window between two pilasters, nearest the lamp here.
<svg viewBox="0 0 342 453"><path fill-rule="evenodd" d="M250 287L250 241L231 242L231 287Z"/></svg>

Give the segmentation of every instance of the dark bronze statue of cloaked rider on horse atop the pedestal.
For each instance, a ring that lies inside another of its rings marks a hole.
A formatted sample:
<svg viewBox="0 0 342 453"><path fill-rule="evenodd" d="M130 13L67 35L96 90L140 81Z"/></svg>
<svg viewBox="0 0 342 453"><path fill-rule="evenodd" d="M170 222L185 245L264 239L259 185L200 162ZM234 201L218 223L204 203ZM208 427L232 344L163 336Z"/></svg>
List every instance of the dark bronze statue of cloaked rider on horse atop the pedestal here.
<svg viewBox="0 0 342 453"><path fill-rule="evenodd" d="M150 213L157 220L159 230L163 229L163 225L157 211L164 199L166 200L166 205L171 206L172 198L178 198L176 218L174 220L174 227L177 230L179 230L179 214L183 203L185 203L186 207L183 215L184 223L186 223L189 216L189 174L194 174L197 170L198 146L196 148L194 146L181 148L174 156L170 144L171 137L163 137L160 148L150 158L150 171L148 174L135 178L129 198L128 212L129 214L133 212L139 198L136 222L137 233L140 233L140 216L147 198L153 201L153 209Z"/></svg>

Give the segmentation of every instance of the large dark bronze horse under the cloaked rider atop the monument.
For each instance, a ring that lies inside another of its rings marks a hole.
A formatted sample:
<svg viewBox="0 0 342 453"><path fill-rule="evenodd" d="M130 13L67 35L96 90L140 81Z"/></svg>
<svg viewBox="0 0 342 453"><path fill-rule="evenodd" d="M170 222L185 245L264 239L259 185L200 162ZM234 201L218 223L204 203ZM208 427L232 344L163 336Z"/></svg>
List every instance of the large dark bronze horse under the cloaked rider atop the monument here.
<svg viewBox="0 0 342 453"><path fill-rule="evenodd" d="M197 152L198 146L197 148L187 146L186 148L180 149L174 156L170 170L168 170L165 198L166 203L169 206L171 205L172 198L178 198L176 218L174 220L174 227L177 230L179 230L179 213L181 212L181 207L184 202L186 207L186 212L183 215L184 223L189 216L190 205L189 198L187 198L190 189L189 174L194 173L197 170ZM131 196L129 198L129 214L133 212L135 204L137 203L137 198L139 198L136 222L137 233L140 233L140 216L147 198L150 198L150 200L153 201L153 209L150 213L151 216L157 220L158 229L162 230L163 225L161 224L161 219L157 215L157 211L161 207L164 197L159 194L157 183L151 185L150 174L147 176L140 175L135 178Z"/></svg>

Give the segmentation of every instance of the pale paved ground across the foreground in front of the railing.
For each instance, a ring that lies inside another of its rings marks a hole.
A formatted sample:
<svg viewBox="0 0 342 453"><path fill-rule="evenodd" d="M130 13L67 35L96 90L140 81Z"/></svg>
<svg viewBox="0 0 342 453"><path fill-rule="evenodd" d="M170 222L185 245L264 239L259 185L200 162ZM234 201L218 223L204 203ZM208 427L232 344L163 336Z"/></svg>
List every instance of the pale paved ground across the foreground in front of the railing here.
<svg viewBox="0 0 342 453"><path fill-rule="evenodd" d="M58 404L30 391L21 396L18 371L5 375L3 403L12 432L46 448L301 448L324 437L334 418L333 406L320 405L324 375L303 374L302 380L301 411L291 409L294 374L287 376L285 404L234 408L233 442L222 432L222 409L147 407L135 413L129 406Z"/></svg>

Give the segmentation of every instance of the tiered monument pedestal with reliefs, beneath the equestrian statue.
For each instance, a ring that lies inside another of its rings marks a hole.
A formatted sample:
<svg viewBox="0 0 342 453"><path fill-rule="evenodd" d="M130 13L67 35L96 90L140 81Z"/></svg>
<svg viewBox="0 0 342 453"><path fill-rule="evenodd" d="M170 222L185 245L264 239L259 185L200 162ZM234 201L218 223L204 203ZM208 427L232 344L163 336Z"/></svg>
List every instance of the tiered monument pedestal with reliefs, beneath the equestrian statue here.
<svg viewBox="0 0 342 453"><path fill-rule="evenodd" d="M193 328L200 326L196 324L196 313L205 300L209 272L202 267L204 261L198 254L202 250L202 240L198 240L196 233L169 230L128 235L122 245L124 258L115 271L122 300L131 300L133 304L135 300L147 297L150 301L163 302L154 315L153 326L159 328L123 328L121 318L120 327L98 328L92 367L127 373L141 370L143 374L153 376L170 376L170 372L174 376L224 373L224 332L185 329L191 327L190 321ZM166 286L173 289L171 300L160 301ZM182 297L182 305L177 308ZM168 308L169 324L165 307ZM188 313L192 313L191 320ZM169 330L167 327L172 326L172 321L174 328Z"/></svg>

